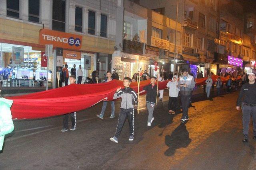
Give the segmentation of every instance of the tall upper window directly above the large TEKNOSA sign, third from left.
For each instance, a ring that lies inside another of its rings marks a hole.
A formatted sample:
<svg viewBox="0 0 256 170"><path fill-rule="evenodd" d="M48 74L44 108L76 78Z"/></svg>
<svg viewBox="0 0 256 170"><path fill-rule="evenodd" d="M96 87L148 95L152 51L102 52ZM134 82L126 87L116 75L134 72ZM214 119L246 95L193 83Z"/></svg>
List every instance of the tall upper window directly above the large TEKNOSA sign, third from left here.
<svg viewBox="0 0 256 170"><path fill-rule="evenodd" d="M52 30L65 32L66 1L52 1Z"/></svg>

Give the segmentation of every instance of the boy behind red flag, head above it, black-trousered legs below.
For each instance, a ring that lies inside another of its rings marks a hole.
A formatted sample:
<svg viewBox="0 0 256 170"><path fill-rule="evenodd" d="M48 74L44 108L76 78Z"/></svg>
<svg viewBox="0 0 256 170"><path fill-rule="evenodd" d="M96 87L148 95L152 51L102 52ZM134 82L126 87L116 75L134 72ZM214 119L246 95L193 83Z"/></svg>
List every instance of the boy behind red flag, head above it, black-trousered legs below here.
<svg viewBox="0 0 256 170"><path fill-rule="evenodd" d="M74 75L71 75L69 77L69 82L70 84L75 84L76 82L76 77ZM73 113L68 113L63 115L63 129L61 130L62 132L68 131L68 117L70 115L71 123L72 126L70 128L71 131L76 130L76 112Z"/></svg>

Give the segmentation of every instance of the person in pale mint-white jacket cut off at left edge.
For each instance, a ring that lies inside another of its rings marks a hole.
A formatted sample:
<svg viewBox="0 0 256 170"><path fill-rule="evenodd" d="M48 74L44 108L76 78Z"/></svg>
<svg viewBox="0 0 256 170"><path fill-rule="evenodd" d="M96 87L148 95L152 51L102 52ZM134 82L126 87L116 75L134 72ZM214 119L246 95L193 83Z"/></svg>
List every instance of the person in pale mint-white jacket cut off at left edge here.
<svg viewBox="0 0 256 170"><path fill-rule="evenodd" d="M8 100L0 96L0 150L2 150L4 145L4 135L11 133L14 129L12 113L10 110L11 106L12 100Z"/></svg>

